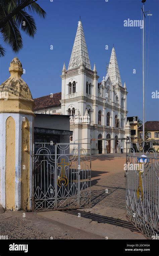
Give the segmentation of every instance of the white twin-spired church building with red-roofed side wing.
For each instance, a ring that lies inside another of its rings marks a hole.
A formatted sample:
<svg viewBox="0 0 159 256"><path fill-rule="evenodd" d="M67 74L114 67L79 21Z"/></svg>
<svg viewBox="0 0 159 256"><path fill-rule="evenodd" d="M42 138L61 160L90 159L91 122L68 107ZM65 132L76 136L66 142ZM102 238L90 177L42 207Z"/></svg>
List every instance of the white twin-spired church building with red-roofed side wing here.
<svg viewBox="0 0 159 256"><path fill-rule="evenodd" d="M35 114L70 115L71 142L89 143L90 139L130 137L127 120L127 90L122 86L116 53L112 48L106 76L98 81L96 65L91 69L82 22L78 28L66 69L62 69L62 92L34 99ZM126 143L120 140L118 148ZM85 145L87 149L87 145ZM89 145L88 145L89 148ZM115 153L117 140L92 141L92 154Z"/></svg>

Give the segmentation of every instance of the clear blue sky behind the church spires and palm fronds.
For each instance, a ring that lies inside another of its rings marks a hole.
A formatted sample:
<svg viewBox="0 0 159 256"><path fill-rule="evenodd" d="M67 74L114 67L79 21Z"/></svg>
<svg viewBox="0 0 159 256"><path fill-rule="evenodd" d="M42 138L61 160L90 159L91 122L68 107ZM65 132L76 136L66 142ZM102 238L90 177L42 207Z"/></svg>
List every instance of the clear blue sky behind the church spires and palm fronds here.
<svg viewBox="0 0 159 256"><path fill-rule="evenodd" d="M96 63L99 82L106 75L106 62L114 44L122 84L126 82L128 91L128 116L138 115L142 119L142 29L123 26L124 20L141 20L141 0L38 0L37 3L47 16L43 20L34 15L37 24L34 39L22 33L23 49L15 54L0 38L7 51L0 58L0 83L9 77L9 63L17 56L26 70L22 78L33 98L61 92L63 62L67 68L81 15L91 67ZM159 99L151 97L152 92L159 92L159 1L147 0L145 11L148 10L153 15L150 16L148 72L146 69L146 121L159 120ZM147 57L148 31L149 16L146 16Z"/></svg>

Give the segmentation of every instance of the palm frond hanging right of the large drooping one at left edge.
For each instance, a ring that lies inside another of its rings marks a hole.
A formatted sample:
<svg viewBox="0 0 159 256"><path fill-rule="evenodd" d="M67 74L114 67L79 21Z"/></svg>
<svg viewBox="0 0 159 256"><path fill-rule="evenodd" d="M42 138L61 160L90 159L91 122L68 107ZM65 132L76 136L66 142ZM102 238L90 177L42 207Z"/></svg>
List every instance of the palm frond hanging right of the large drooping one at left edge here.
<svg viewBox="0 0 159 256"><path fill-rule="evenodd" d="M34 37L37 28L33 16L21 10L17 13L15 22L18 27L21 26L21 30L23 30L27 35ZM23 22L25 22L25 25L23 25Z"/></svg>

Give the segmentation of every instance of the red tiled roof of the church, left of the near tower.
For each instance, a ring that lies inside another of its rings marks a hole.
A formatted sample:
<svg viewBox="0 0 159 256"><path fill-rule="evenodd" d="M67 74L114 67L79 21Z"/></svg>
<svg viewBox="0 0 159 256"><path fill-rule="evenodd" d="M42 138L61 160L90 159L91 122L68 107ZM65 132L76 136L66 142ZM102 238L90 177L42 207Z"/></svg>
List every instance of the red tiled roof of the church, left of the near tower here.
<svg viewBox="0 0 159 256"><path fill-rule="evenodd" d="M34 102L35 102L34 110L61 106L60 100L61 100L61 92L54 93L52 97L51 95L47 95L40 98L36 98L34 99Z"/></svg>

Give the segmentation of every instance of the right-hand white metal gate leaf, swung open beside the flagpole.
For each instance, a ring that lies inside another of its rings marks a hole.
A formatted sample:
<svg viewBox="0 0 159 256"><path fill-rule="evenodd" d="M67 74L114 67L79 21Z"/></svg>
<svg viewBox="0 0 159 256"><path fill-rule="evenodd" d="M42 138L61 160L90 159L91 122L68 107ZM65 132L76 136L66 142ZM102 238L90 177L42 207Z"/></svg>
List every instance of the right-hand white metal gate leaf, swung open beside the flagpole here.
<svg viewBox="0 0 159 256"><path fill-rule="evenodd" d="M158 141L135 143L139 153L126 143L126 217L148 239L159 234Z"/></svg>

